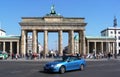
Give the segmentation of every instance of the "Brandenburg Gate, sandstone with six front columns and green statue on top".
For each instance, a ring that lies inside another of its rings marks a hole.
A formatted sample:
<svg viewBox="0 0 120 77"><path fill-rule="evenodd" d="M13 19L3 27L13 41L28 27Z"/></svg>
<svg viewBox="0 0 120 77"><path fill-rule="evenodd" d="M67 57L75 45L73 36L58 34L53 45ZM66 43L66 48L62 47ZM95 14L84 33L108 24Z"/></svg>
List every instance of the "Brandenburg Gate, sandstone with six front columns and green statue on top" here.
<svg viewBox="0 0 120 77"><path fill-rule="evenodd" d="M74 53L74 32L79 34L79 53L86 54L84 18L63 17L56 14L54 7L51 13L43 17L22 17L21 25L21 54L26 54L27 33L32 32L32 52L37 53L38 32L44 32L43 55L48 53L48 33L58 32L58 52L63 55L63 32L68 32L68 52Z"/></svg>

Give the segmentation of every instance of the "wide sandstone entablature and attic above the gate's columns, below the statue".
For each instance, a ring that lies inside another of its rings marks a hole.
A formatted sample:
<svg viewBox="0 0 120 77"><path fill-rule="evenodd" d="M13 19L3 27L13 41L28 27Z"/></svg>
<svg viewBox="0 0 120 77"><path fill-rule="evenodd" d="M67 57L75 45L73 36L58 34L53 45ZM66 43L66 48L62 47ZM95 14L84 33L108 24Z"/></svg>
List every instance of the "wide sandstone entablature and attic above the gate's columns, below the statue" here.
<svg viewBox="0 0 120 77"><path fill-rule="evenodd" d="M58 16L23 17L20 22L24 30L84 30L84 18L64 18Z"/></svg>

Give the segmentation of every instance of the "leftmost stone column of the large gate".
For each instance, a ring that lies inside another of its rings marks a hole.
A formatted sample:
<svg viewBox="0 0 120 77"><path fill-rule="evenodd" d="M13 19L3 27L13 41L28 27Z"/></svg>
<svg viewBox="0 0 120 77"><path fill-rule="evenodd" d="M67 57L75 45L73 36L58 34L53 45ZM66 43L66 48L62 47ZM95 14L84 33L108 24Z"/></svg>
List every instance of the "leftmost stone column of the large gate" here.
<svg viewBox="0 0 120 77"><path fill-rule="evenodd" d="M21 55L26 54L26 31L22 30L21 32Z"/></svg>

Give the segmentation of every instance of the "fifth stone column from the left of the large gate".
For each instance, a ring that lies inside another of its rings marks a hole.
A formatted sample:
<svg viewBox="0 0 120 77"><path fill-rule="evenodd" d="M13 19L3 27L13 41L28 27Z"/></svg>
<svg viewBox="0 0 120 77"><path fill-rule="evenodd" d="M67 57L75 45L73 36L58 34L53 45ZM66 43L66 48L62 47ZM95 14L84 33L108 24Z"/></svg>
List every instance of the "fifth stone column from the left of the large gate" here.
<svg viewBox="0 0 120 77"><path fill-rule="evenodd" d="M69 32L69 51L71 54L74 54L74 31Z"/></svg>

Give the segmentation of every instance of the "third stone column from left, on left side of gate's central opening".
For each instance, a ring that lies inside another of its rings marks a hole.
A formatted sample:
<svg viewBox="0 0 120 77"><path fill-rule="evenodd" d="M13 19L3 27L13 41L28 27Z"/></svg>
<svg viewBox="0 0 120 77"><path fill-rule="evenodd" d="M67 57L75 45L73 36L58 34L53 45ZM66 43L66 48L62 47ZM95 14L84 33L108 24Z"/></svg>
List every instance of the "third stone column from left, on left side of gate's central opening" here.
<svg viewBox="0 0 120 77"><path fill-rule="evenodd" d="M46 54L48 53L48 31L44 31L44 58L46 58Z"/></svg>

